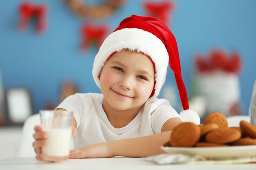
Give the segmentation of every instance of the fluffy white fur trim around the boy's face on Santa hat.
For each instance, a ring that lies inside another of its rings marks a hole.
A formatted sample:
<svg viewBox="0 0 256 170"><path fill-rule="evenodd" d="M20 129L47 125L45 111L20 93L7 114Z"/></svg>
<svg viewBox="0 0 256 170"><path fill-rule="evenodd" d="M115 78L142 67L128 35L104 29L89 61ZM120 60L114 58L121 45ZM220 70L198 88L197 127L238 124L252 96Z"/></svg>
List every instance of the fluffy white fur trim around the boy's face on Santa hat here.
<svg viewBox="0 0 256 170"><path fill-rule="evenodd" d="M115 51L122 49L143 52L148 55L155 63L155 93L153 97L157 97L166 80L168 53L161 40L154 34L137 28L125 28L111 33L101 45L97 53L92 75L97 86L100 88L99 74L106 62L106 59Z"/></svg>

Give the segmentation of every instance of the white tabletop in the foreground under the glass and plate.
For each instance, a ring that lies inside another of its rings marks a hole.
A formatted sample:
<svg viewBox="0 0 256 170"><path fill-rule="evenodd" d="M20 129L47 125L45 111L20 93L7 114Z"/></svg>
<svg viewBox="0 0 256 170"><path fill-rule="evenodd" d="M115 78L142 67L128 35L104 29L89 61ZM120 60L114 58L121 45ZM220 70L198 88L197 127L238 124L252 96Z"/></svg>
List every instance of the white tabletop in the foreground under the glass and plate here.
<svg viewBox="0 0 256 170"><path fill-rule="evenodd" d="M0 170L256 170L256 163L232 165L157 165L143 158L69 159L59 163L34 157L12 157L0 161Z"/></svg>

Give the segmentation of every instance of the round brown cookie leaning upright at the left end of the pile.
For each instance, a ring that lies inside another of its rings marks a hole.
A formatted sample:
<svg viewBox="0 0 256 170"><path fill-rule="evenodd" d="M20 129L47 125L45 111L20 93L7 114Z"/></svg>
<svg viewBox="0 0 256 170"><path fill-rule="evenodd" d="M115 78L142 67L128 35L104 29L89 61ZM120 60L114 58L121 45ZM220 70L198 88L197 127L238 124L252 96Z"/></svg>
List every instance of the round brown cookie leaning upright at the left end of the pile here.
<svg viewBox="0 0 256 170"><path fill-rule="evenodd" d="M193 147L200 138L200 127L192 122L181 123L171 133L171 146Z"/></svg>

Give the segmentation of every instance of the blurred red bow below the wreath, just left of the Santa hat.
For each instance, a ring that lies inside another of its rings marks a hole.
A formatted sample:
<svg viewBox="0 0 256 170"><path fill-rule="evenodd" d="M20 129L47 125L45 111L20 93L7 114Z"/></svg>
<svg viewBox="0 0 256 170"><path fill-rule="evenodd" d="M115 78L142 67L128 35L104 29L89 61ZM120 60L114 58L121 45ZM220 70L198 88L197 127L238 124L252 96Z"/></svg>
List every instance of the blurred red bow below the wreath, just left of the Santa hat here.
<svg viewBox="0 0 256 170"><path fill-rule="evenodd" d="M80 49L89 49L93 45L99 49L102 42L107 36L108 26L106 25L95 25L95 24L85 24L81 28L81 43Z"/></svg>

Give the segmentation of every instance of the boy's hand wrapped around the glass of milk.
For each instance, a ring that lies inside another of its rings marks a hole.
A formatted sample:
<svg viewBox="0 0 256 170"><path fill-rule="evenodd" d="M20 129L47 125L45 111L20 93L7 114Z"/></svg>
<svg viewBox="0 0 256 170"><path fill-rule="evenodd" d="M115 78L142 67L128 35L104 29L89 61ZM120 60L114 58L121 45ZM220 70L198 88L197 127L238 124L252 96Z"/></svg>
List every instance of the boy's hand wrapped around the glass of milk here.
<svg viewBox="0 0 256 170"><path fill-rule="evenodd" d="M45 160L51 162L59 162L60 159L48 157L42 153L42 147L47 144L47 132L43 131L43 128L38 125L34 127L35 133L33 137L35 141L33 142L32 146L34 147L34 151L36 152L36 159L37 160ZM76 135L76 129L72 128L72 137Z"/></svg>

